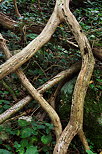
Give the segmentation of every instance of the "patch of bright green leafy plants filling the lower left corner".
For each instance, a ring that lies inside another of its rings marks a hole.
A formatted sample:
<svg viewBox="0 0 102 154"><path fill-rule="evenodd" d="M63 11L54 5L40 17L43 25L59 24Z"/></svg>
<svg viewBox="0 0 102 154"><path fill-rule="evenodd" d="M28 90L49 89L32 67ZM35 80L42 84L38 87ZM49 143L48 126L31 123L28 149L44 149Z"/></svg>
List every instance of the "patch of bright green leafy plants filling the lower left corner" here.
<svg viewBox="0 0 102 154"><path fill-rule="evenodd" d="M47 148L48 145L50 145L50 147L53 147L54 142L52 142L53 137L51 135L51 131L53 129L52 124L34 121L34 119L31 122L20 119L18 120L18 123L16 125L17 129L0 126L0 132L4 131L5 133L12 135L11 140L14 142L14 146L12 148L16 150L17 153L37 154L39 153L38 149L41 150L43 146L45 148ZM4 143L4 147L12 152L9 142L6 145ZM47 149L47 151L51 150L52 148ZM41 151L43 152L43 148Z"/></svg>

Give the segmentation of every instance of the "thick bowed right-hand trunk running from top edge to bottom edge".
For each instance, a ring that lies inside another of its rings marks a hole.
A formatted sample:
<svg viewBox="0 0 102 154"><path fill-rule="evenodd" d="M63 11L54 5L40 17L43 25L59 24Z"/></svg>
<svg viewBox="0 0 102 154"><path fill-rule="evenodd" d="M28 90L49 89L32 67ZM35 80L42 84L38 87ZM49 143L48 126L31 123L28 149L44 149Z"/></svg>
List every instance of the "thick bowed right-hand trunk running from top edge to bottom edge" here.
<svg viewBox="0 0 102 154"><path fill-rule="evenodd" d="M58 6L62 11L66 23L69 25L75 39L80 47L82 56L82 67L78 75L71 106L70 121L62 132L55 149L54 154L67 153L68 146L73 137L82 129L83 126L83 105L89 81L94 69L94 57L87 37L82 32L82 29L69 9L69 0L58 0ZM71 128L71 131L69 130ZM72 135L70 135L72 133Z"/></svg>

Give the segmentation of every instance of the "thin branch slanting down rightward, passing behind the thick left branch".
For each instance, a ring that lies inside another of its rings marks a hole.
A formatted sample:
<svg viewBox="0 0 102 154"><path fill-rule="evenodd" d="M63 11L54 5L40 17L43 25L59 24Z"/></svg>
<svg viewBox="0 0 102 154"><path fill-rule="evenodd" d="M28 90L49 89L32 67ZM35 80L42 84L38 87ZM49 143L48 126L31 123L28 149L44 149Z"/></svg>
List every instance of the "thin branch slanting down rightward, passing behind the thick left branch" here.
<svg viewBox="0 0 102 154"><path fill-rule="evenodd" d="M2 35L0 35L0 42L2 49L5 52L7 58L10 58L10 51L6 46L6 41L3 39ZM23 73L21 69L16 70L16 74L18 75L19 79L21 80L24 87L27 91L32 95L32 97L41 105L41 107L48 113L49 117L52 120L54 125L56 139L60 137L62 133L62 126L60 122L60 118L57 115L56 111L49 105L49 103L42 97L42 95L32 86L32 84L27 79L26 75Z"/></svg>

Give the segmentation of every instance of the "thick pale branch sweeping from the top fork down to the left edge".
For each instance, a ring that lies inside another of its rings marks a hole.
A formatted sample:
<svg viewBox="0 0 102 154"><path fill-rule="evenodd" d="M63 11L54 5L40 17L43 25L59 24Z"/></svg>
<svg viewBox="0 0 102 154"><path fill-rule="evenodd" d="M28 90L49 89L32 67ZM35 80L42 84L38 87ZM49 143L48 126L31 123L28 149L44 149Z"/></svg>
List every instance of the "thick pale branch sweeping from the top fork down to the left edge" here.
<svg viewBox="0 0 102 154"><path fill-rule="evenodd" d="M0 79L15 71L18 67L28 61L46 42L49 41L59 23L60 19L57 16L57 8L55 6L54 12L41 34L31 41L21 52L12 56L4 64L0 65Z"/></svg>

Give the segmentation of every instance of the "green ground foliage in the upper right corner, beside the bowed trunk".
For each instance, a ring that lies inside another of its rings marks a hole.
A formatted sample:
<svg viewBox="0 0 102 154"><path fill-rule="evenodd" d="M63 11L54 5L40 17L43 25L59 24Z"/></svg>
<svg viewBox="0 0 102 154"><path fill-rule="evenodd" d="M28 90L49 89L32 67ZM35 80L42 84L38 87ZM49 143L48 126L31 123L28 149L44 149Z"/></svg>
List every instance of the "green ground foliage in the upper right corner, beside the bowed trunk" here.
<svg viewBox="0 0 102 154"><path fill-rule="evenodd" d="M102 1L86 1L85 7L76 9L74 14L92 45L101 46L102 30L98 29L102 25Z"/></svg>

